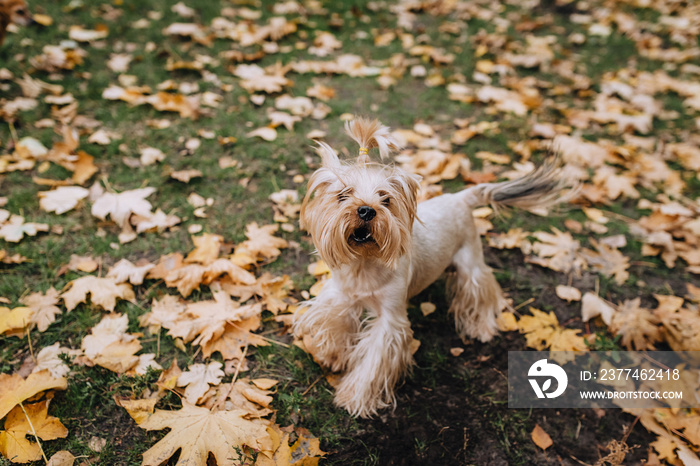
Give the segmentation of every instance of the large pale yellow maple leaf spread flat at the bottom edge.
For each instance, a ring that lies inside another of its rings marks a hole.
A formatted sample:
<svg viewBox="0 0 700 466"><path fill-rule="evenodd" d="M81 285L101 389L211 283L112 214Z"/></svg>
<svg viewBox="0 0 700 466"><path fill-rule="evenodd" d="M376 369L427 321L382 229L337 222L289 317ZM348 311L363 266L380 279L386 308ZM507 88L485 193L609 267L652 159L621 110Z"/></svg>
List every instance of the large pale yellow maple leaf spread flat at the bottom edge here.
<svg viewBox="0 0 700 466"><path fill-rule="evenodd" d="M156 410L139 427L170 432L143 454L143 466L160 466L178 450L176 466L204 465L209 454L217 464L230 464L236 451L270 451L269 421L246 419L245 411L210 411L183 401L178 411ZM239 458L243 460L243 458Z"/></svg>

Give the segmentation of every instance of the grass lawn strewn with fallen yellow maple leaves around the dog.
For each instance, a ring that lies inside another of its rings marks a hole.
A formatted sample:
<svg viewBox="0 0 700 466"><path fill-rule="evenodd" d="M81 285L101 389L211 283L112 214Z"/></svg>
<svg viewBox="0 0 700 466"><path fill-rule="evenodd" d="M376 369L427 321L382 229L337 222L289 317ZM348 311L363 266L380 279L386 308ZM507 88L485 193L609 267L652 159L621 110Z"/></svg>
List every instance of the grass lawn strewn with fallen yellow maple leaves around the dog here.
<svg viewBox="0 0 700 466"><path fill-rule="evenodd" d="M509 351L700 351L692 2L29 8L0 46L0 465L700 461L696 409L507 403ZM438 280L372 419L290 334L328 277L298 223L314 139L352 156L355 115L395 131L422 199L552 149L581 186L546 214L476 211L503 331L460 340ZM569 346L528 336L538 311Z"/></svg>

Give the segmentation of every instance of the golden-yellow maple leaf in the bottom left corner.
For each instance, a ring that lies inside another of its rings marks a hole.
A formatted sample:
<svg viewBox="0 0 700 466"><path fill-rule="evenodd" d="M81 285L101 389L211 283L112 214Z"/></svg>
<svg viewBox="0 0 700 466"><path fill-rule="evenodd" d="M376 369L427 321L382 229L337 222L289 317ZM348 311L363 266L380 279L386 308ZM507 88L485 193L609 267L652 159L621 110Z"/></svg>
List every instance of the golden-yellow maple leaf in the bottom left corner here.
<svg viewBox="0 0 700 466"><path fill-rule="evenodd" d="M0 431L0 454L15 463L39 461L42 450L38 443L32 440L55 440L65 438L68 429L54 416L48 415L49 400L23 405L24 409L16 406L5 419L5 430ZM26 414L25 414L26 413Z"/></svg>

